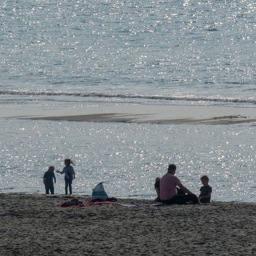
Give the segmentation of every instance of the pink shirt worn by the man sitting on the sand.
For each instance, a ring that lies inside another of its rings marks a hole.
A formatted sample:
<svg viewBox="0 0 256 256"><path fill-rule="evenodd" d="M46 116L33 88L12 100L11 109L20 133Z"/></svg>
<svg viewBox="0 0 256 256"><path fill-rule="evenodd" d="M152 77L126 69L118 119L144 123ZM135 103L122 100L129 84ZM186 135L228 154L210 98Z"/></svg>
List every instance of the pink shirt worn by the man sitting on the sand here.
<svg viewBox="0 0 256 256"><path fill-rule="evenodd" d="M177 195L177 188L181 184L178 177L171 173L166 173L160 179L160 199L162 201L171 199Z"/></svg>

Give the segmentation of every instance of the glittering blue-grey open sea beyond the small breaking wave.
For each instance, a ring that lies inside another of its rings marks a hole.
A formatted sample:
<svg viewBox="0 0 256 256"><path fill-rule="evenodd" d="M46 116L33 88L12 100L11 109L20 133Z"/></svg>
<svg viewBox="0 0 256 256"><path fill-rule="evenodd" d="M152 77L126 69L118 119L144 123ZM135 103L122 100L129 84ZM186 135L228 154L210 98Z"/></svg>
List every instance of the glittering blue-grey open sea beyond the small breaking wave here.
<svg viewBox="0 0 256 256"><path fill-rule="evenodd" d="M0 89L255 99L255 1L24 0L0 8Z"/></svg>

